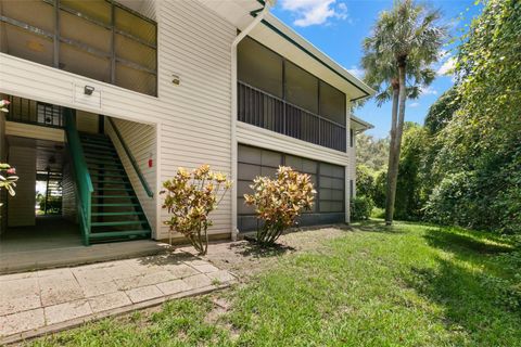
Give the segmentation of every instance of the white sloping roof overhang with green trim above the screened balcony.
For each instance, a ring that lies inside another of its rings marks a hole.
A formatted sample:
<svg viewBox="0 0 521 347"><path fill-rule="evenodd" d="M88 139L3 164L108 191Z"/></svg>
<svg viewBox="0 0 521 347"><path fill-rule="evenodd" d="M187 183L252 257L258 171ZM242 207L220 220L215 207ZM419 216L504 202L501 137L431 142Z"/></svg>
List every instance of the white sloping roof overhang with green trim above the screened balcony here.
<svg viewBox="0 0 521 347"><path fill-rule="evenodd" d="M200 1L239 29L244 29L253 21L255 12L263 7L256 0ZM369 86L353 76L347 69L270 13L250 33L250 36L340 89L351 101L374 94L374 90Z"/></svg>

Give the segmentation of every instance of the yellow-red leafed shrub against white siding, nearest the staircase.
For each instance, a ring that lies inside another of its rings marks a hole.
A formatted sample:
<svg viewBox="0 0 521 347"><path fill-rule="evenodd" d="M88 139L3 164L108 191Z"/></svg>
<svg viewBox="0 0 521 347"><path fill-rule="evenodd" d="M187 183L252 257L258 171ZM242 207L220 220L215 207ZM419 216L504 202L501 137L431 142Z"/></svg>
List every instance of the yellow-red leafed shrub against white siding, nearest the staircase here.
<svg viewBox="0 0 521 347"><path fill-rule="evenodd" d="M173 215L165 224L171 232L183 234L199 252L205 255L208 249L207 229L212 226L208 214L221 202L230 189L231 181L220 172L213 172L208 165L203 165L192 172L183 168L176 176L163 182L165 202L163 208Z"/></svg>

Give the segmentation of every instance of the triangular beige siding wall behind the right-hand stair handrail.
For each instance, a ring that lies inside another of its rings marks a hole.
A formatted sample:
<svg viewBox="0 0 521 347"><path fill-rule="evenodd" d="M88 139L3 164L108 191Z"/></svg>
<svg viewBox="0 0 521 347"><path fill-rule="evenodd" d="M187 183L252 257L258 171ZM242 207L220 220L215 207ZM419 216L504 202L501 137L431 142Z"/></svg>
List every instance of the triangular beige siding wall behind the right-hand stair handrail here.
<svg viewBox="0 0 521 347"><path fill-rule="evenodd" d="M147 215L150 226L152 227L153 235L156 234L156 198L157 192L155 192L156 187L156 130L155 127L113 118L113 121L119 131L125 144L130 151L131 155L136 159L141 174L144 177L144 180L149 183L150 189L152 190L154 196L150 197L139 177L134 169L134 166L130 162L130 158L127 156L122 143L119 142L117 136L115 134L113 128L110 124L105 123L105 132L111 137L112 142L114 143L117 154L122 159L125 171L128 175L130 183L132 184L134 191L136 192L139 203L143 207L143 210ZM149 158L152 158L154 164L152 167L149 167Z"/></svg>

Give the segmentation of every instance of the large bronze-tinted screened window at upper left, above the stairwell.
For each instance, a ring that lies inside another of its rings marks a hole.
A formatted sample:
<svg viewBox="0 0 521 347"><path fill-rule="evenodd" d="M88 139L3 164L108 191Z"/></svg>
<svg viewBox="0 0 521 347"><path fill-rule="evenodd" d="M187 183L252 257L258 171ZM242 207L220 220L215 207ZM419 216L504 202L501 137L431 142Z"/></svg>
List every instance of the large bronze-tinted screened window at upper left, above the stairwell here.
<svg viewBox="0 0 521 347"><path fill-rule="evenodd" d="M111 0L0 0L0 14L2 52L156 95L156 24L132 10Z"/></svg>

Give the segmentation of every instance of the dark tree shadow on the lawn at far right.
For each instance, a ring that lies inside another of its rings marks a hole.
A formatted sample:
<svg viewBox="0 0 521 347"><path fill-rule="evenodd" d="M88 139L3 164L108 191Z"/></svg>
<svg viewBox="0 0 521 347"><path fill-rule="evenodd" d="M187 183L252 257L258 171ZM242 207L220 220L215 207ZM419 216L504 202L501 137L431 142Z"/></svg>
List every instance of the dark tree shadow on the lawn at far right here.
<svg viewBox="0 0 521 347"><path fill-rule="evenodd" d="M435 267L414 266L406 283L421 296L442 306L447 329L461 331L467 345L520 346L521 292L504 273L499 254L513 247L484 235L452 228L428 229L423 237L432 247L450 252L437 256Z"/></svg>

